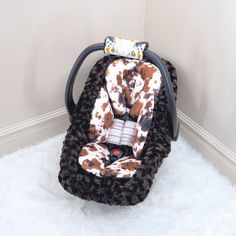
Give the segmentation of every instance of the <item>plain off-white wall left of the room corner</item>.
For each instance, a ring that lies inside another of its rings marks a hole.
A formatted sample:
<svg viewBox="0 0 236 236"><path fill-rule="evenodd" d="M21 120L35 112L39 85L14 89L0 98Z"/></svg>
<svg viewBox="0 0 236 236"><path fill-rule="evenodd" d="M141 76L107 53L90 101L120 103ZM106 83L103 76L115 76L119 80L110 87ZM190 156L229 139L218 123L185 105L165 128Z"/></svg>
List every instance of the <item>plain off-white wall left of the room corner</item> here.
<svg viewBox="0 0 236 236"><path fill-rule="evenodd" d="M142 39L144 7L142 0L1 1L0 129L64 106L81 50L107 35ZM92 62L83 67L79 90Z"/></svg>

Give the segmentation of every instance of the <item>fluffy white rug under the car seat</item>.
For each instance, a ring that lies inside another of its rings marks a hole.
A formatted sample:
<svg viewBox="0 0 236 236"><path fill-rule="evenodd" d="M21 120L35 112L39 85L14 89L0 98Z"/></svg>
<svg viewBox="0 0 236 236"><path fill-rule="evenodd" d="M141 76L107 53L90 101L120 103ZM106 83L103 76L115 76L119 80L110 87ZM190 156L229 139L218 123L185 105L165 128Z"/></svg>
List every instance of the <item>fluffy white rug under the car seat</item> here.
<svg viewBox="0 0 236 236"><path fill-rule="evenodd" d="M0 235L236 235L236 190L181 137L147 199L80 200L57 180L63 135L0 158Z"/></svg>

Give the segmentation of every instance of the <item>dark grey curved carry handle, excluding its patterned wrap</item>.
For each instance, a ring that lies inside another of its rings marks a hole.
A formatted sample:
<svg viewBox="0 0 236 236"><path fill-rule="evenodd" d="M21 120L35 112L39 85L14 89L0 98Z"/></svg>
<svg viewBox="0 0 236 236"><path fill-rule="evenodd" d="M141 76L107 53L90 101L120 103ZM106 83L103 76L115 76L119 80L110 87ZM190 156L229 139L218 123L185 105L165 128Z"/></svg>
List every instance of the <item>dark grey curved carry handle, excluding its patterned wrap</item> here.
<svg viewBox="0 0 236 236"><path fill-rule="evenodd" d="M75 61L71 69L71 72L69 74L69 78L66 84L66 90L65 90L65 105L66 105L66 109L69 114L70 120L76 106L73 99L73 87L74 87L76 75L82 63L86 59L86 57L92 52L100 51L100 50L104 50L104 43L97 43L97 44L88 46L79 55L79 57L77 58L77 60ZM144 52L144 55L155 66L157 66L157 68L161 72L164 88L167 95L167 101L168 101L168 116L169 116L168 121L171 127L171 137L173 141L176 141L178 138L179 123L177 122L175 95L174 95L174 90L172 87L172 82L170 80L169 72L166 66L164 65L162 59L159 56L157 56L154 52L147 49Z"/></svg>

